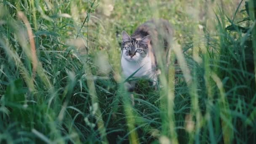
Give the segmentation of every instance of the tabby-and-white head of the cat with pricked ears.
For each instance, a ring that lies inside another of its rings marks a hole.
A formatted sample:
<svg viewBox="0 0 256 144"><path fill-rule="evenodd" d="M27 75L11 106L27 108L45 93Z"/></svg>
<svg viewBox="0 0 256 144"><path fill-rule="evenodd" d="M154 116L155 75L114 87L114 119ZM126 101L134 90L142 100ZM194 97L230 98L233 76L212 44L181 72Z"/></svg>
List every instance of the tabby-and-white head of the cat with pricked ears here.
<svg viewBox="0 0 256 144"><path fill-rule="evenodd" d="M141 61L147 56L151 37L142 39L131 38L125 31L122 32L122 56L128 61Z"/></svg>

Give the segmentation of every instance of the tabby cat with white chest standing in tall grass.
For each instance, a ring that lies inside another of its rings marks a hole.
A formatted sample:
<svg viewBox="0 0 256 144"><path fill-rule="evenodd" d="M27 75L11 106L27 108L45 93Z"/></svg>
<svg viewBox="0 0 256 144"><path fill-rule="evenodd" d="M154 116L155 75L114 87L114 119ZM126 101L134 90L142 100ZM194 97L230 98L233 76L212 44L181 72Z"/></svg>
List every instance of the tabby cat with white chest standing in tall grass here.
<svg viewBox="0 0 256 144"><path fill-rule="evenodd" d="M136 72L133 77L144 77L158 83L157 75L160 71L157 64L162 61L168 63L168 50L170 47L173 29L167 20L153 19L141 24L135 32L128 35L122 32L121 68L127 78ZM158 54L158 55L157 55ZM157 59L157 56L160 57ZM125 83L125 89L133 91L136 81Z"/></svg>

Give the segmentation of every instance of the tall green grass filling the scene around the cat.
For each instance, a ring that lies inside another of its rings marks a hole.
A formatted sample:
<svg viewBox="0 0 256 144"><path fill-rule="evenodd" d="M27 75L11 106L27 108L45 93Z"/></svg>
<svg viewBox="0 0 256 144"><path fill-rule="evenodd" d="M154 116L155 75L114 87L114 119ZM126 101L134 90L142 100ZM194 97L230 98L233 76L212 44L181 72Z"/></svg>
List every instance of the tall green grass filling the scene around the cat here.
<svg viewBox="0 0 256 144"><path fill-rule="evenodd" d="M256 142L253 0L0 2L0 143ZM155 17L172 64L132 106L120 33Z"/></svg>

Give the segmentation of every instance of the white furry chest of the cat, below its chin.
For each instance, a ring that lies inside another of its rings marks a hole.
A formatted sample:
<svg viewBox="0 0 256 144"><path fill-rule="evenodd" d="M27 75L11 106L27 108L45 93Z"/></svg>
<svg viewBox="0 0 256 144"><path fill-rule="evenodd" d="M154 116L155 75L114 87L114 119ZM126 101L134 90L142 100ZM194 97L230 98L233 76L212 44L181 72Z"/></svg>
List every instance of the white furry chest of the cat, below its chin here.
<svg viewBox="0 0 256 144"><path fill-rule="evenodd" d="M129 77L136 70L138 72L133 75L133 77L150 77L152 75L152 64L149 57L144 58L139 63L136 61L128 61L124 57L121 58L121 67L123 69L123 75Z"/></svg>

